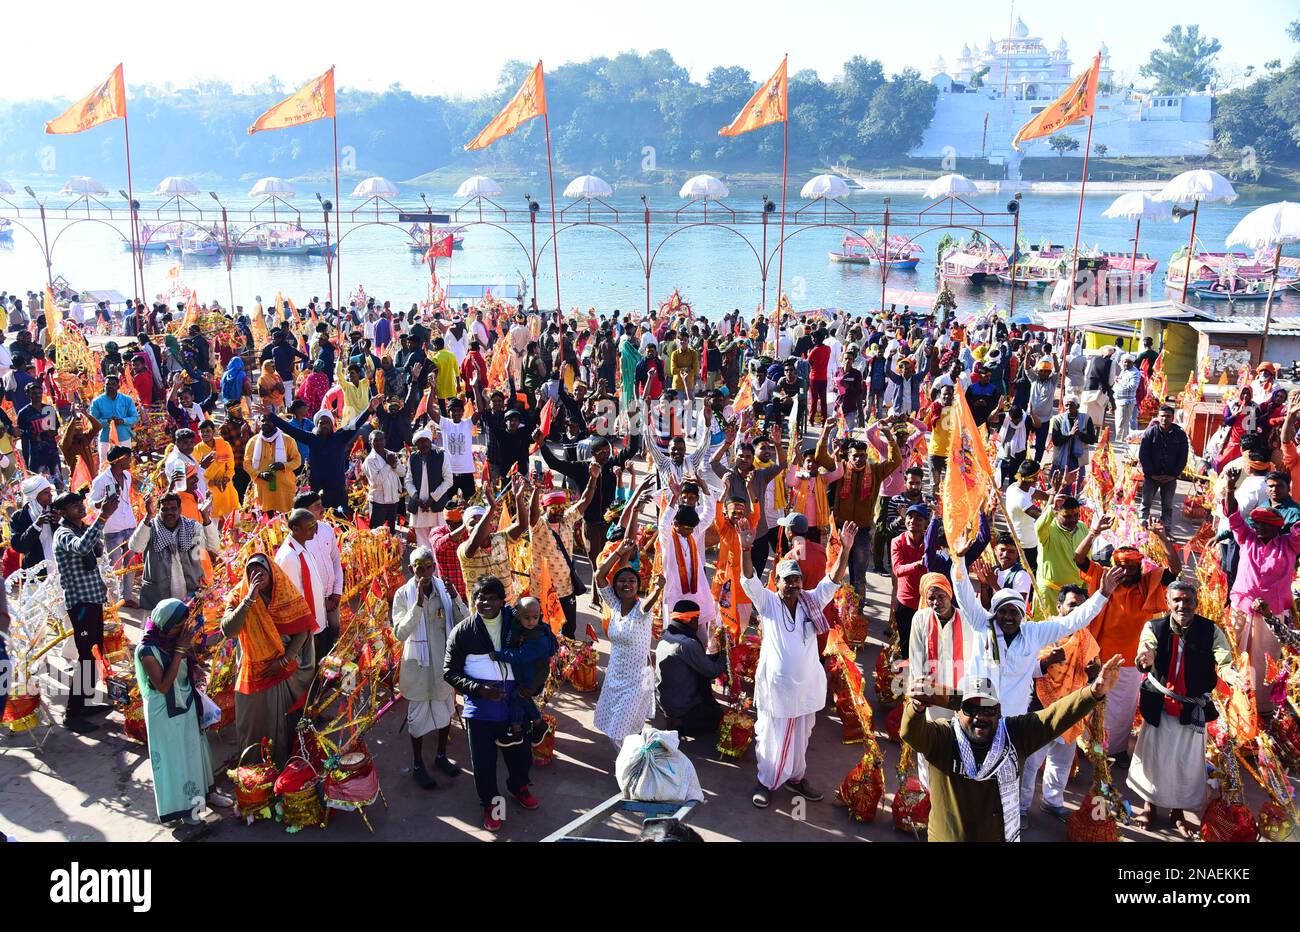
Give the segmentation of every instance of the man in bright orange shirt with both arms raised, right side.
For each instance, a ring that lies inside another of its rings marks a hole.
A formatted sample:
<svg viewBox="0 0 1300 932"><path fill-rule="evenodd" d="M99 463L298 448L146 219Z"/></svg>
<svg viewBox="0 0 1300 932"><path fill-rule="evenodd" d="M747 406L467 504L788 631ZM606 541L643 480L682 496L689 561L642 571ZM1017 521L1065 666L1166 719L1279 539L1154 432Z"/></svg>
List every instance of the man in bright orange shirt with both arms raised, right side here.
<svg viewBox="0 0 1300 932"><path fill-rule="evenodd" d="M1075 547L1075 564L1088 591L1097 591L1105 572L1100 560L1091 559L1092 543L1100 533L1114 526L1114 523L1113 516L1097 513L1092 520L1092 528ZM1144 567L1141 551L1136 547L1115 547L1110 562L1123 568L1123 577L1102 612L1089 625L1102 656L1118 654L1123 658L1119 680L1106 703L1106 733L1110 741L1108 750L1115 755L1127 755L1128 732L1138 712L1138 686L1141 682L1141 673L1134 663L1143 625L1160 615L1165 607L1165 589L1183 572L1182 554L1169 539L1165 526L1152 520L1148 530L1164 547L1169 567Z"/></svg>

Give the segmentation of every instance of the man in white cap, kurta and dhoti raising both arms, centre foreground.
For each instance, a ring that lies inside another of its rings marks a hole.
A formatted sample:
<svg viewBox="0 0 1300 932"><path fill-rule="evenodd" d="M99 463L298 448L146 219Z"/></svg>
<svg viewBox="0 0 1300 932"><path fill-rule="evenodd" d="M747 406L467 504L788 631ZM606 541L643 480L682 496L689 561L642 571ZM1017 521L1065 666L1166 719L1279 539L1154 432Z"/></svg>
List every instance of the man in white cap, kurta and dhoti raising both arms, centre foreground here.
<svg viewBox="0 0 1300 932"><path fill-rule="evenodd" d="M816 714L826 706L826 669L818 651L818 634L829 629L824 610L844 580L858 526L848 521L840 528L840 558L831 575L815 589L805 591L803 572L794 560L776 567L776 591L754 575L750 551L754 530L744 521L737 526L741 547L741 586L754 603L763 646L754 673L754 755L758 784L751 801L766 807L772 792L786 786L816 802L822 793L805 776L807 745ZM664 560L667 564L668 560Z"/></svg>

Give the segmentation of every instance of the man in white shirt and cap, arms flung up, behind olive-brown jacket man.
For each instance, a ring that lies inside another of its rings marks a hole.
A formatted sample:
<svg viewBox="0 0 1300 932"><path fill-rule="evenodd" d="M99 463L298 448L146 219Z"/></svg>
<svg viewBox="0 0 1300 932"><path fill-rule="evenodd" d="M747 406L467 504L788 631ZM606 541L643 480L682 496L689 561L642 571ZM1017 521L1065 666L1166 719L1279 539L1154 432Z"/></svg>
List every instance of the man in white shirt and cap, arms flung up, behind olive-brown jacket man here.
<svg viewBox="0 0 1300 932"><path fill-rule="evenodd" d="M965 555L966 549L958 549L957 555ZM1040 651L1080 628L1086 628L1096 619L1124 573L1122 567L1112 567L1102 576L1100 590L1079 608L1063 617L1058 616L1026 625L1023 624L1023 593L1017 589L998 589L993 593L989 607L985 610L971 585L966 560L953 560L957 604L966 623L978 634L987 638L989 656L993 662L989 673L996 680L1004 715L1024 715L1030 711L1034 680L1041 672L1039 669ZM1034 802L1032 796L1020 798L1022 822L1028 818L1031 802Z"/></svg>

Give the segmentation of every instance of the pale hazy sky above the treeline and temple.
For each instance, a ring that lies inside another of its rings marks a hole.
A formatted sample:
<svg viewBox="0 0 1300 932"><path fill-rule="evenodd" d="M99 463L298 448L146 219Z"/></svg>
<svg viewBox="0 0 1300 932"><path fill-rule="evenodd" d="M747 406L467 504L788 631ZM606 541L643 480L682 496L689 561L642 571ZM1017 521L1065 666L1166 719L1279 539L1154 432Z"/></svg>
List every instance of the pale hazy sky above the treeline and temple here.
<svg viewBox="0 0 1300 932"><path fill-rule="evenodd" d="M1015 14L1049 48L1063 35L1076 65L1105 42L1113 66L1132 78L1175 22L1199 23L1218 38L1222 68L1290 61L1300 51L1284 34L1300 8L1280 0L1022 0ZM1010 16L1010 3L950 0L13 3L4 13L14 40L6 43L0 99L78 97L118 61L127 84L183 87L216 77L240 87L274 74L294 86L333 64L341 88L400 82L448 95L494 87L508 58L554 66L651 48L667 48L696 79L715 65L744 65L766 78L784 52L793 70L814 68L826 79L853 55L880 58L889 71L911 65L928 74L939 55L952 66L963 42L983 45L1005 35Z"/></svg>

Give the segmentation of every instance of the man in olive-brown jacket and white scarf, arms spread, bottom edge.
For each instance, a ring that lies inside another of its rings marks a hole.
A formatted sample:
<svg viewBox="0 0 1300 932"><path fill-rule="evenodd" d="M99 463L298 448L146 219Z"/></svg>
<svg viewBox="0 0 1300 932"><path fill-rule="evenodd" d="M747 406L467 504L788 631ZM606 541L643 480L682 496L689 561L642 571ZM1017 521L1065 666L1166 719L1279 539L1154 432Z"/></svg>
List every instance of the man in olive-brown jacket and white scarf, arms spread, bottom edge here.
<svg viewBox="0 0 1300 932"><path fill-rule="evenodd" d="M953 721L930 721L932 681L907 688L900 736L930 760L930 841L1019 841L1020 762L1080 721L1119 679L1113 656L1097 679L1040 712L1002 718L997 685L987 675L961 684Z"/></svg>

